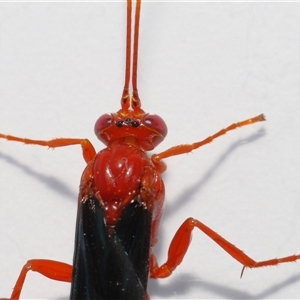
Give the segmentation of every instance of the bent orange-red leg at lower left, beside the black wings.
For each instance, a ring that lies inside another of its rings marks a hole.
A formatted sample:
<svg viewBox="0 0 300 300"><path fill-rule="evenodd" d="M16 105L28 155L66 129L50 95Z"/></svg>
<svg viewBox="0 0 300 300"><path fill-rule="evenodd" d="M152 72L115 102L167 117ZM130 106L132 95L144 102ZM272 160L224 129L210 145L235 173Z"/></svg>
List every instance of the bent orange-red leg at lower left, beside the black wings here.
<svg viewBox="0 0 300 300"><path fill-rule="evenodd" d="M50 279L71 282L72 269L73 267L71 265L59 261L48 259L31 259L22 268L10 299L18 300L20 298L22 287L28 271L38 272Z"/></svg>

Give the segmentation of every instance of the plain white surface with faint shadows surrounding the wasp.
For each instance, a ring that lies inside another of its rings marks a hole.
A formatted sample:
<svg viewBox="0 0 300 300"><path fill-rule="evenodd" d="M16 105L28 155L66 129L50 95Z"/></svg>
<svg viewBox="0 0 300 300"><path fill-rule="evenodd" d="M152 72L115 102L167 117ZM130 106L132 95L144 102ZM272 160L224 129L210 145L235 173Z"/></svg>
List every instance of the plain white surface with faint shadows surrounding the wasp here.
<svg viewBox="0 0 300 300"><path fill-rule="evenodd" d="M124 84L119 3L0 3L0 132L87 137L115 112ZM144 3L138 86L164 117L156 152L260 113L193 154L169 158L155 248L163 263L189 216L256 260L300 253L300 4ZM72 263L80 147L0 141L0 296L30 258ZM120 266L121 267L121 266ZM300 263L246 270L198 230L151 299L299 298ZM22 298L67 299L70 285L30 273Z"/></svg>

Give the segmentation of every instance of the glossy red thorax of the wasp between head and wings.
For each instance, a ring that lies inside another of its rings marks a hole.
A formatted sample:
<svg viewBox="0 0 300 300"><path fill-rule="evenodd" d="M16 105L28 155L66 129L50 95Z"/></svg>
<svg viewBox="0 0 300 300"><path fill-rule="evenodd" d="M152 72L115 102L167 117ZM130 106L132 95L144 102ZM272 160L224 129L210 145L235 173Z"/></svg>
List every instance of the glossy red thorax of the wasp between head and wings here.
<svg viewBox="0 0 300 300"><path fill-rule="evenodd" d="M133 200L152 211L154 228L159 223L164 183L151 159L137 145L117 140L100 151L83 172L79 201L96 195L108 226L116 225L123 209Z"/></svg>

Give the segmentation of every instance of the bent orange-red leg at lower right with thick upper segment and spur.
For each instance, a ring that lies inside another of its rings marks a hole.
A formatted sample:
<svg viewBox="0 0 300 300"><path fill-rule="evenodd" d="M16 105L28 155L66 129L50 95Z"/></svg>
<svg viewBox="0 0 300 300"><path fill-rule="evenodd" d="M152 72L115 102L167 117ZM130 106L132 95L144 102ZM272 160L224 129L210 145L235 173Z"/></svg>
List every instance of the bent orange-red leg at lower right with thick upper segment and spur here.
<svg viewBox="0 0 300 300"><path fill-rule="evenodd" d="M172 274L178 265L181 264L184 255L189 247L191 241L191 235L193 229L197 227L207 236L213 239L220 247L222 247L228 254L230 254L234 259L239 261L243 265L241 272L241 277L245 268L260 268L267 266L276 266L280 263L293 262L300 259L300 255L291 255L282 258L274 258L264 261L255 261L248 255L246 255L242 250L229 243L227 240L222 238L215 231L205 226L200 221L188 218L180 228L177 230L173 240L170 244L168 251L168 260L162 266L158 266L156 257L153 253L150 256L150 277L151 278L165 278Z"/></svg>

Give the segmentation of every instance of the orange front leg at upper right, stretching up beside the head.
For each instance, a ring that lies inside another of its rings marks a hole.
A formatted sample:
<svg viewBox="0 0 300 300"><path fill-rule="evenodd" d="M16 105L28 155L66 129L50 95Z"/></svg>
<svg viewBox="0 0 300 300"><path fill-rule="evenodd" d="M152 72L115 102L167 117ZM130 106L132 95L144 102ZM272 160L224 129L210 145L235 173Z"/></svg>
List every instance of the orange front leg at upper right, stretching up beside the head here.
<svg viewBox="0 0 300 300"><path fill-rule="evenodd" d="M206 144L211 143L214 139L226 134L228 131L237 129L238 127L243 127L246 125L251 125L253 123L256 122L261 122L261 121L265 121L265 116L263 114L258 115L254 118L251 119L247 119L238 123L233 123L230 126L218 131L217 133L215 133L212 136L207 137L206 139L200 141L200 142L196 142L193 144L184 144L184 145L178 145L172 148L167 149L164 152L161 152L159 154L153 154L151 159L153 161L153 163L157 166L158 170L160 170L161 172L164 172L166 170L166 166L165 164L161 161L164 158L170 157L170 156L175 156L175 155L180 155L180 154L184 154L184 153L189 153L192 152L195 149L198 149Z"/></svg>

